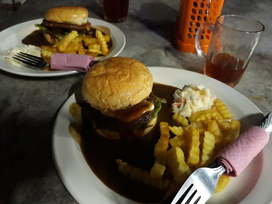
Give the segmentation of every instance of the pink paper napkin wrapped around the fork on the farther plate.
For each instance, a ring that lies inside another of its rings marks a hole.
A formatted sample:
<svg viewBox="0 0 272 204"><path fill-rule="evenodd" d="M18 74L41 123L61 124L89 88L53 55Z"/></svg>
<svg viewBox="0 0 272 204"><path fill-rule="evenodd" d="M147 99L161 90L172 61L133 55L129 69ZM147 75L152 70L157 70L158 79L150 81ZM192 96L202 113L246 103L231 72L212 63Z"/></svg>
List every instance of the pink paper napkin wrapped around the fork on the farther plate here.
<svg viewBox="0 0 272 204"><path fill-rule="evenodd" d="M94 57L79 54L54 53L51 56L51 69L64 71L88 72Z"/></svg>

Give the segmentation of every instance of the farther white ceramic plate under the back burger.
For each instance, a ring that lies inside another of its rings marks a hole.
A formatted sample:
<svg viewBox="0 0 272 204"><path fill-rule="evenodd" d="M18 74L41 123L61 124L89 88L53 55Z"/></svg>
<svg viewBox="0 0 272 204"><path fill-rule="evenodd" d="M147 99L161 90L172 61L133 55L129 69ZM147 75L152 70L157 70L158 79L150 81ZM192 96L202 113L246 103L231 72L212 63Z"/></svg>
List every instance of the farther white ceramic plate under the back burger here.
<svg viewBox="0 0 272 204"><path fill-rule="evenodd" d="M0 69L10 72L17 75L23 76L36 76L36 77L45 77L45 76L61 76L61 75L69 75L78 73L77 71L44 71L44 70L36 70L31 69L26 66L13 66L7 64L6 61L2 58L2 55L7 55L8 50L11 47L22 47L22 39L29 35L32 31L37 30L35 27L36 23L41 23L41 19L31 20L24 23L17 24L15 26L9 27L0 32ZM117 28L116 26L107 23L106 21L89 18L89 22L94 25L106 26L111 31L111 38L113 41L113 46L111 50L109 50L109 54L103 57L96 57L95 60L103 60L108 57L116 57L125 47L126 39L124 33Z"/></svg>

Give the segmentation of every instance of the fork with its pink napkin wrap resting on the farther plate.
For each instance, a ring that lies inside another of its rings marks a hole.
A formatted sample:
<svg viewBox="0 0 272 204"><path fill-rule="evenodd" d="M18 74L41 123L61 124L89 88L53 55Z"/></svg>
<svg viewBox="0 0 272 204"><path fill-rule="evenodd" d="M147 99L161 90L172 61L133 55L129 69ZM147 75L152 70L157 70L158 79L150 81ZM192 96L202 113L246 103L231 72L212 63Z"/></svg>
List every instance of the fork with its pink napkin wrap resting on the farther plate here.
<svg viewBox="0 0 272 204"><path fill-rule="evenodd" d="M48 65L43 58L34 55L20 52L15 56L13 58L32 67L43 68ZM57 70L87 72L91 66L98 62L89 55L54 53L51 56L50 65L52 69Z"/></svg>

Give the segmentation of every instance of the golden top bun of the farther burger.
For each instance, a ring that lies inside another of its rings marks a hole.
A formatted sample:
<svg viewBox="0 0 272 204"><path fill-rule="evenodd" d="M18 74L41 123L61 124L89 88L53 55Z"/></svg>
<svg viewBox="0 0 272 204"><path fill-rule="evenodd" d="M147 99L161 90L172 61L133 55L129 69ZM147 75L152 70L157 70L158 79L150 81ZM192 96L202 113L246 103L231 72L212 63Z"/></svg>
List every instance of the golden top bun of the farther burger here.
<svg viewBox="0 0 272 204"><path fill-rule="evenodd" d="M88 22L88 10L78 6L63 6L50 8L45 13L45 20L57 23L83 25Z"/></svg>

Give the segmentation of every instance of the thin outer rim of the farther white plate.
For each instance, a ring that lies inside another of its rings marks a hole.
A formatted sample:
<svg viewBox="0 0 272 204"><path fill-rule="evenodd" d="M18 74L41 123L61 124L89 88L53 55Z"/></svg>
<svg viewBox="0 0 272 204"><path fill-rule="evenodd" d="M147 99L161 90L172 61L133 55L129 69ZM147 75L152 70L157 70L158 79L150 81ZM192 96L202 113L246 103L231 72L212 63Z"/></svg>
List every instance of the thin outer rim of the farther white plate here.
<svg viewBox="0 0 272 204"><path fill-rule="evenodd" d="M17 27L17 26L21 26L25 23L30 23L30 21L42 21L44 18L37 18L37 19L33 19L33 20L29 20L29 21L25 21L25 22L22 22L22 23L18 23L16 25L13 25L13 26L10 26L4 30L1 30L0 31L0 35L2 32L6 31L7 29L13 29L14 27ZM122 46L120 47L120 50L118 50L112 57L116 57L120 54L120 52L123 51L124 47L125 47L125 44L126 44L126 37L125 37L125 34L122 32L122 30L120 30L118 27L116 27L115 25L107 22L107 21L104 21L104 20L101 20L101 19L97 19L97 18L90 18L88 17L88 20L89 22L91 22L92 20L95 20L95 21L102 21L103 23L106 23L106 24L109 24L111 26L113 26L115 29L118 30L118 32L120 32L119 34L122 34ZM0 56L2 57L2 56ZM12 66L12 65L10 65ZM28 68L28 67L26 67ZM0 69L5 71L5 72L8 72L8 73L12 73L12 74L15 74L15 75L20 75L20 76L29 76L29 77L54 77L54 76L65 76L65 75L71 75L71 74L76 74L76 73L79 73L78 71L54 71L54 73L50 73L50 72L45 72L45 73L28 73L28 72L20 72L20 71L16 71L16 70L11 70L9 68L6 68L6 67L2 67L0 66Z"/></svg>

